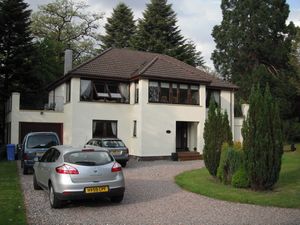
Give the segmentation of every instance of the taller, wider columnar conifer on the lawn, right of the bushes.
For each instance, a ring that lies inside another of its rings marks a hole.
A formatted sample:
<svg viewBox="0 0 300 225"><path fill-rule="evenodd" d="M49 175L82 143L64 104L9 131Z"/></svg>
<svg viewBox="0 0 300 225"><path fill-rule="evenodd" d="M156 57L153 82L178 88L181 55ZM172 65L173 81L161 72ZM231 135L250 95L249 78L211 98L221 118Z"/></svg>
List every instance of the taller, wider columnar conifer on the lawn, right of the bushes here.
<svg viewBox="0 0 300 225"><path fill-rule="evenodd" d="M242 134L245 166L251 188L272 188L279 178L283 138L278 105L268 86L264 93L260 87L252 89L250 108Z"/></svg>

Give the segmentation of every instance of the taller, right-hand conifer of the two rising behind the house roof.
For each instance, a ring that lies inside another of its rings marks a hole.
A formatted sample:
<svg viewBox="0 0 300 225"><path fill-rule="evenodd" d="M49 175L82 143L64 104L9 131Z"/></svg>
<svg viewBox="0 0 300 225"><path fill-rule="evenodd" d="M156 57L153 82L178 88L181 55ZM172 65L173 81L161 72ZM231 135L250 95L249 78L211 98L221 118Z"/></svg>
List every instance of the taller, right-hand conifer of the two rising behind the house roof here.
<svg viewBox="0 0 300 225"><path fill-rule="evenodd" d="M203 66L203 58L194 44L180 34L176 14L167 0L151 0L139 20L133 47L175 57L190 65Z"/></svg>

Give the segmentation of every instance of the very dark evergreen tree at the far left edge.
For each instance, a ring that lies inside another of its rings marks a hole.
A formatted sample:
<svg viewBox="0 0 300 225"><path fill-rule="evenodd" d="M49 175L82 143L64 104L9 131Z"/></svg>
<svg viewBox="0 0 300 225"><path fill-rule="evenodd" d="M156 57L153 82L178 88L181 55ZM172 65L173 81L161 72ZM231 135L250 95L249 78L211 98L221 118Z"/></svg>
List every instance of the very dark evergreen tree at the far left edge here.
<svg viewBox="0 0 300 225"><path fill-rule="evenodd" d="M23 0L0 1L0 86L1 123L5 122L4 102L12 90L32 86L30 81L32 37L29 29L30 13ZM3 129L1 129L3 131Z"/></svg>

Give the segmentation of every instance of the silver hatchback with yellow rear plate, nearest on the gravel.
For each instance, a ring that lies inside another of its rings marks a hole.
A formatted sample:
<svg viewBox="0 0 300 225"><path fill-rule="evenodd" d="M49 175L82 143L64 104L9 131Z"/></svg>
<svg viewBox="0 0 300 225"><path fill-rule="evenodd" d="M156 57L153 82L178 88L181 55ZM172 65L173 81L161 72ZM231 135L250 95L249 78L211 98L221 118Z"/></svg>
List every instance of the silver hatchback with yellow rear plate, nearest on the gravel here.
<svg viewBox="0 0 300 225"><path fill-rule="evenodd" d="M48 191L52 208L60 208L65 200L73 199L123 200L122 167L105 149L54 146L40 160L35 158L33 169L33 187Z"/></svg>

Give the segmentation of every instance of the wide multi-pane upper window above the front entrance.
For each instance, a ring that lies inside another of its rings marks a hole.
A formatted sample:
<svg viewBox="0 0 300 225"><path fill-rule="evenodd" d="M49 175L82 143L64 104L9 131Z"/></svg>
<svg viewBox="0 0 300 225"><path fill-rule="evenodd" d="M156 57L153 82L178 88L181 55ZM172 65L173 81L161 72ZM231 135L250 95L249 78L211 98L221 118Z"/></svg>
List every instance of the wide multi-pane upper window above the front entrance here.
<svg viewBox="0 0 300 225"><path fill-rule="evenodd" d="M199 105L199 86L149 81L149 102Z"/></svg>

